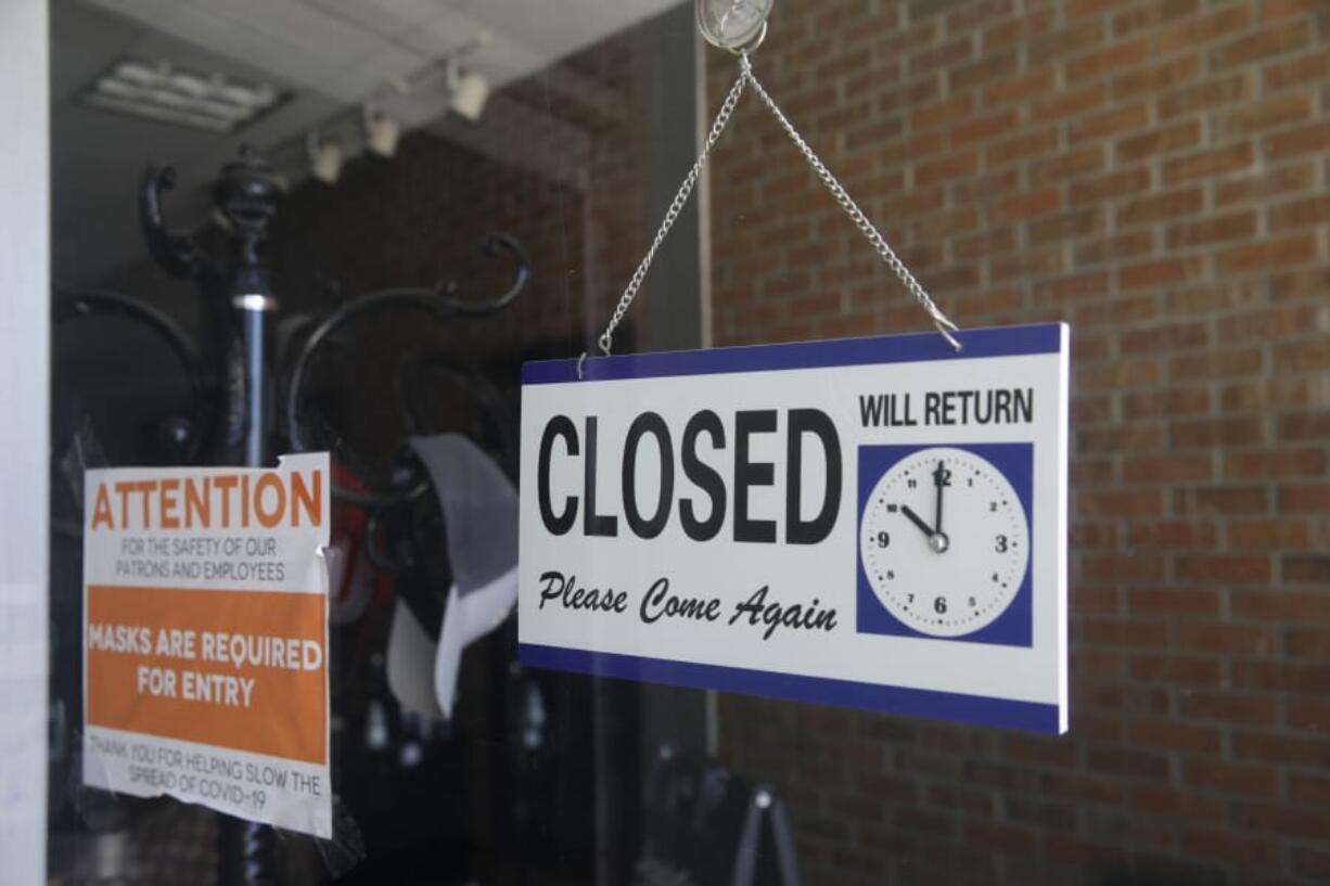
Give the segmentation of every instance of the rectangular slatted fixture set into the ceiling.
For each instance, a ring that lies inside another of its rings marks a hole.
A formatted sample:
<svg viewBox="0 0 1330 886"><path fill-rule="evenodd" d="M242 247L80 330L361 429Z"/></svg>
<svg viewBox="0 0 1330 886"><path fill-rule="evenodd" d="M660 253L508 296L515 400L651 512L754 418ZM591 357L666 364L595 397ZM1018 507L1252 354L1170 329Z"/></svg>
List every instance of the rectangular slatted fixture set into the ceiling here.
<svg viewBox="0 0 1330 886"><path fill-rule="evenodd" d="M190 129L234 133L289 97L269 84L247 84L219 73L122 59L88 84L78 102Z"/></svg>

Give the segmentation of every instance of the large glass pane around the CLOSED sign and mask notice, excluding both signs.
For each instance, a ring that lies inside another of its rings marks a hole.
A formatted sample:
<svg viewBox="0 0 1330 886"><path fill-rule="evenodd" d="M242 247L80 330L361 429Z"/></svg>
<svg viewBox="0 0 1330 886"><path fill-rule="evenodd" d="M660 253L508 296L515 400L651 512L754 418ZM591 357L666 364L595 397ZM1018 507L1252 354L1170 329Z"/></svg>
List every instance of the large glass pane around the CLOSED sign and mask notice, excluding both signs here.
<svg viewBox="0 0 1330 886"><path fill-rule="evenodd" d="M69 0L49 883L1330 878L1323 4L702 5L962 338L1069 325L1069 730L529 666L511 601L467 621L535 482L521 367L598 354L666 212L617 354L934 331L751 86L672 208L743 64L693 3ZM86 472L299 451L331 838L84 785Z"/></svg>

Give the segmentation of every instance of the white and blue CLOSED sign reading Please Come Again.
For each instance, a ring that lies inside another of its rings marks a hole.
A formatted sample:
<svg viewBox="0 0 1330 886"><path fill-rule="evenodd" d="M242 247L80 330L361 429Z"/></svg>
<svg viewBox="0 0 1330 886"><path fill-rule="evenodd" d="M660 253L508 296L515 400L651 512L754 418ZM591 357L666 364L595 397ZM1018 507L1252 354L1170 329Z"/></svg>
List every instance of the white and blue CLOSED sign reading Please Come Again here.
<svg viewBox="0 0 1330 886"><path fill-rule="evenodd" d="M528 363L524 664L1067 729L1068 329Z"/></svg>

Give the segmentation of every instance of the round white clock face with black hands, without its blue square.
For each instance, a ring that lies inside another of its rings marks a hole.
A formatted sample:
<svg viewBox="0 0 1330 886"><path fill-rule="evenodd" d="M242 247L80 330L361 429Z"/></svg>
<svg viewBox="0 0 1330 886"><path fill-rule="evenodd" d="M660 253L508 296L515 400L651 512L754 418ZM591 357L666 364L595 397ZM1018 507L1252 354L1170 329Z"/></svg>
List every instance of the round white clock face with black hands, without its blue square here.
<svg viewBox="0 0 1330 886"><path fill-rule="evenodd" d="M1025 579L1029 524L991 462L952 447L918 450L883 472L863 506L859 557L882 605L938 637L1000 616Z"/></svg>

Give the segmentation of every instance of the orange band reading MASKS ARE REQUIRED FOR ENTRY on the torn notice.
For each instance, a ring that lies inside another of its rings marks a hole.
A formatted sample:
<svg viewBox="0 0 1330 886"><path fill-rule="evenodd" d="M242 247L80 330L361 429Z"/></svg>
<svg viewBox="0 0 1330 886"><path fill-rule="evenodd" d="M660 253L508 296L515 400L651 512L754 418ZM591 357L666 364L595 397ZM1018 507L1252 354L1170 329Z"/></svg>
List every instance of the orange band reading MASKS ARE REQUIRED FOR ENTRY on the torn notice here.
<svg viewBox="0 0 1330 886"><path fill-rule="evenodd" d="M88 585L88 725L326 762L326 599Z"/></svg>

